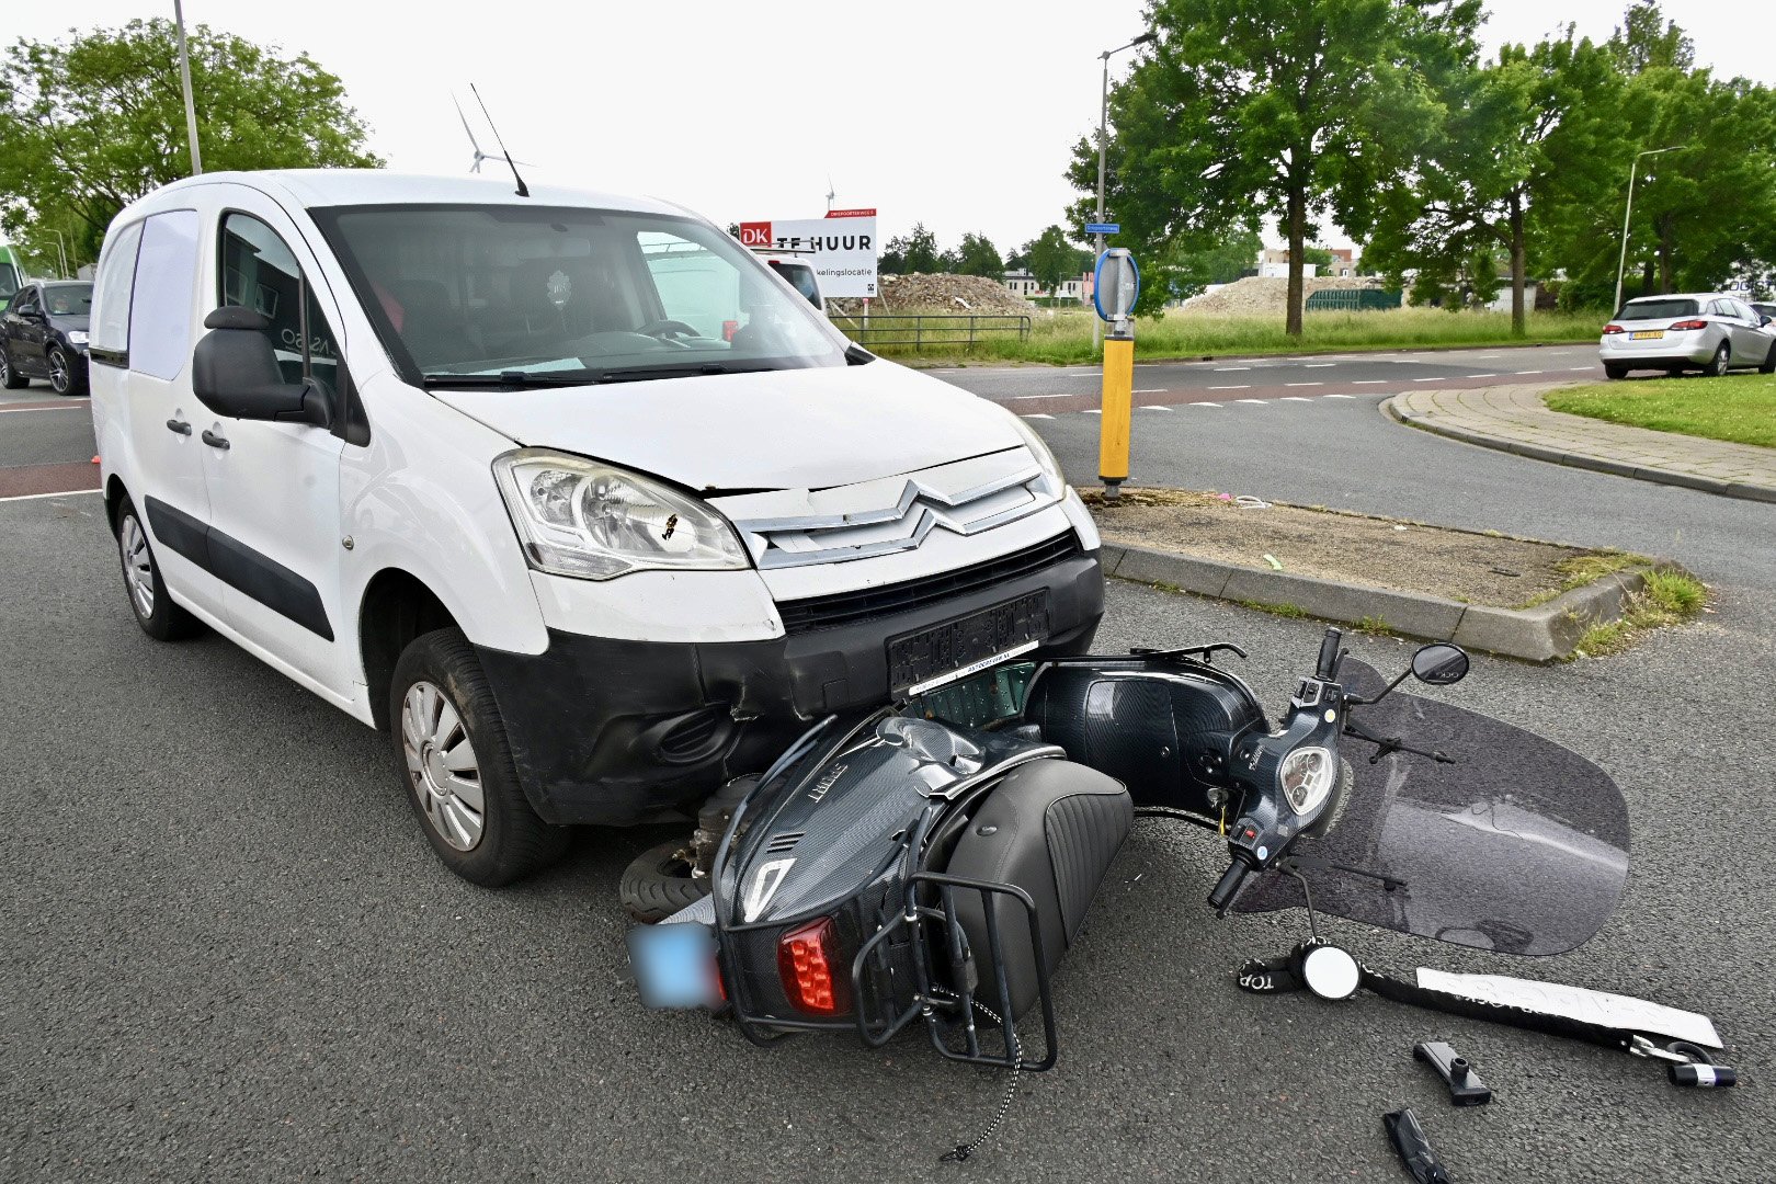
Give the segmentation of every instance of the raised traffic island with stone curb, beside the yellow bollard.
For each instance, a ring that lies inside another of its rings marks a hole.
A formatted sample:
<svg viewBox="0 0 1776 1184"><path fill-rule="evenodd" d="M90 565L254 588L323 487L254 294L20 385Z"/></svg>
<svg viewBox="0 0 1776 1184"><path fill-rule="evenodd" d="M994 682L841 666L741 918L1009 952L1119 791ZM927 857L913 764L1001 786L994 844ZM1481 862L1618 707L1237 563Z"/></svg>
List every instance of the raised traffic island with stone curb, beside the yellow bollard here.
<svg viewBox="0 0 1776 1184"><path fill-rule="evenodd" d="M1106 575L1529 662L1613 653L1701 609L1675 563L1192 490L1082 490Z"/></svg>

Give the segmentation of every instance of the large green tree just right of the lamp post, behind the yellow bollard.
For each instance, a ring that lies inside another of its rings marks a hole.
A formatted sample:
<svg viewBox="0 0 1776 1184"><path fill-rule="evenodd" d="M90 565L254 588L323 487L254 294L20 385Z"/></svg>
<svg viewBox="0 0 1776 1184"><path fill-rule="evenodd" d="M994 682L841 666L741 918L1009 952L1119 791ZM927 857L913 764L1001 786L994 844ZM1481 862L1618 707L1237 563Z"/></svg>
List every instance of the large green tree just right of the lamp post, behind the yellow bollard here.
<svg viewBox="0 0 1776 1184"><path fill-rule="evenodd" d="M1300 335L1318 220L1368 231L1375 195L1410 163L1392 146L1431 115L1424 64L1472 55L1479 0L1154 0L1149 16L1160 41L1110 99L1119 241L1165 257L1275 215ZM1074 147L1067 176L1096 188L1092 144Z"/></svg>

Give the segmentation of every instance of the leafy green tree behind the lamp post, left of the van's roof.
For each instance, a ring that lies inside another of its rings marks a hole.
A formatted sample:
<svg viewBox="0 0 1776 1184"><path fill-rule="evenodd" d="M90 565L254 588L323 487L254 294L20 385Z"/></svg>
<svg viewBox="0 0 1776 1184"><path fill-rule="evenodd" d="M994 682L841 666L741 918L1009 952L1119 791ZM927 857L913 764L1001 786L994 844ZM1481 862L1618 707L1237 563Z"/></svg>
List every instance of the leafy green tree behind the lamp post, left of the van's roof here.
<svg viewBox="0 0 1776 1184"><path fill-rule="evenodd" d="M188 44L206 169L382 163L345 85L305 53L206 25ZM190 158L172 21L21 39L0 60L0 227L36 254L53 254L53 227L96 259L117 211L186 176Z"/></svg>

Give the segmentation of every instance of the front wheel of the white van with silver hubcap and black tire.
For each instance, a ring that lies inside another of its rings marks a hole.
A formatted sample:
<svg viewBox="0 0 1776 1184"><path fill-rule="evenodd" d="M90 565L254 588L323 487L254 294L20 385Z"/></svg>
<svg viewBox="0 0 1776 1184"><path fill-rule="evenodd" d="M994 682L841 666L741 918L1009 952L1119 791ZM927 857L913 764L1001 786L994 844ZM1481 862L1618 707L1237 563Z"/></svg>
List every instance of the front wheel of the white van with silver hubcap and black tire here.
<svg viewBox="0 0 1776 1184"><path fill-rule="evenodd" d="M407 801L446 868L471 884L503 888L567 850L568 829L538 818L524 797L499 703L462 630L421 634L401 651L389 724ZM446 754L469 767L451 772ZM458 785L464 797L451 790Z"/></svg>

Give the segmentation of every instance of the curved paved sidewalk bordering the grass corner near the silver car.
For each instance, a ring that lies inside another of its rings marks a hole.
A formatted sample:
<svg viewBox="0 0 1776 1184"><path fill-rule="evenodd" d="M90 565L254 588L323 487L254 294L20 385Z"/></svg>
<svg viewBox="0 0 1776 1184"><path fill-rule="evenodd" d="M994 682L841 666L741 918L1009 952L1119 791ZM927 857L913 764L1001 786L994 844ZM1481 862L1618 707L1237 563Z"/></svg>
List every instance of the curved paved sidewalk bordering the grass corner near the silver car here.
<svg viewBox="0 0 1776 1184"><path fill-rule="evenodd" d="M1403 424L1481 447L1618 478L1776 502L1776 449L1550 412L1542 396L1558 385L1565 383L1405 391L1382 407Z"/></svg>

